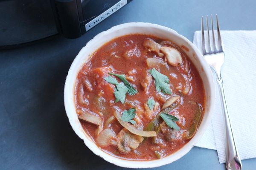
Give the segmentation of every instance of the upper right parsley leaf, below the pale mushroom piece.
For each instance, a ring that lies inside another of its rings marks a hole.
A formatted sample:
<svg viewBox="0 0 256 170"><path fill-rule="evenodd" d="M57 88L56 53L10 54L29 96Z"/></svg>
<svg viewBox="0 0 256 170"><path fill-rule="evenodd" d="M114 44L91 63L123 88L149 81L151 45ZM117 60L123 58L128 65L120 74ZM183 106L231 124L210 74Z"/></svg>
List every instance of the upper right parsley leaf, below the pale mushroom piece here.
<svg viewBox="0 0 256 170"><path fill-rule="evenodd" d="M155 68L149 70L149 73L152 77L154 77L156 90L158 92L162 91L163 94L172 94L172 90L170 88L169 79L166 75L161 74Z"/></svg>

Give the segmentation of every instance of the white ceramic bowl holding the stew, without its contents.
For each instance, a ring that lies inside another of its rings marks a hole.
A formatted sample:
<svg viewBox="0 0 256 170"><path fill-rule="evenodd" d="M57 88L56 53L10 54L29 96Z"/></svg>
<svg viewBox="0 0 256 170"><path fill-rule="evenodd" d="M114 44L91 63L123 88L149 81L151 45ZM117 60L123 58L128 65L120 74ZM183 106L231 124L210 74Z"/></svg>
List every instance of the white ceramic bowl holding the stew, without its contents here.
<svg viewBox="0 0 256 170"><path fill-rule="evenodd" d="M79 119L76 115L76 107L75 107L75 99L74 99L74 88L76 84L76 76L81 68L81 66L90 58L91 54L96 51L99 47L101 47L104 43L122 35L127 34L152 34L154 36L172 40L177 45L185 45L189 48L189 52L186 52L187 56L191 59L191 61L196 66L204 84L205 95L206 95L206 105L204 111L204 117L202 119L201 125L198 128L195 136L180 150L177 152L166 156L163 159L157 159L153 161L129 161L125 159L119 159L115 156L112 156L108 153L105 153L96 144L92 139L84 132ZM84 48L81 49L79 54L74 59L70 70L68 71L67 79L65 82L64 89L64 103L65 109L67 112L67 116L72 126L73 130L76 134L84 140L84 143L90 150L93 151L96 155L102 157L108 162L116 164L120 167L129 167L129 168L147 168L147 167L159 167L164 164L169 164L177 159L180 159L189 150L198 142L198 140L203 136L204 131L207 128L207 125L210 123L210 118L212 115L212 110L214 106L215 99L215 87L212 78L212 72L209 68L209 65L205 61L202 54L198 51L198 49L185 37L178 34L176 31L164 27L159 26L157 24L151 23L125 23L118 26L114 26L107 31L103 31L102 33L96 35L92 40L90 40Z"/></svg>

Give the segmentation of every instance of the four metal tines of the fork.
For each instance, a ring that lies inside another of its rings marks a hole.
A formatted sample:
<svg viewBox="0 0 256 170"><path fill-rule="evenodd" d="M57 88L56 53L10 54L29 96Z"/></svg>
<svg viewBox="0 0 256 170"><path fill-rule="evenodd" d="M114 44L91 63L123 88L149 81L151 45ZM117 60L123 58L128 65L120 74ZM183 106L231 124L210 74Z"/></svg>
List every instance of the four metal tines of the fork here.
<svg viewBox="0 0 256 170"><path fill-rule="evenodd" d="M218 41L217 46L215 43L215 37L214 37L214 28L213 28L213 20L211 15L211 23L212 23L212 42L210 41L210 34L209 34L209 25L208 25L208 15L206 16L206 27L207 27L207 35L208 35L208 45L206 49L205 45L205 38L204 38L204 17L202 16L201 20L201 31L202 31L202 51L203 54L216 54L218 52L222 52L222 41L221 41L221 34L220 34L220 27L218 24L218 15L216 14L216 23L217 23L217 32L218 32ZM218 50L217 50L218 48Z"/></svg>

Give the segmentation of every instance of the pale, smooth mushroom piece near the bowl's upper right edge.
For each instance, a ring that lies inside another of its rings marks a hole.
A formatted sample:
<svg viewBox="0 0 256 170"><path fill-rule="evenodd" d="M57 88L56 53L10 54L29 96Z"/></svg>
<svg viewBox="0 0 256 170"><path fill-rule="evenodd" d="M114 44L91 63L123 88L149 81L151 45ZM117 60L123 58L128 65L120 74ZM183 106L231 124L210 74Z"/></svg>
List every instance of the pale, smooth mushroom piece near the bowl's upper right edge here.
<svg viewBox="0 0 256 170"><path fill-rule="evenodd" d="M180 51L178 51L176 48L162 46L160 48L160 51L162 51L163 54L166 56L169 65L177 67L182 64L183 59L181 57Z"/></svg>

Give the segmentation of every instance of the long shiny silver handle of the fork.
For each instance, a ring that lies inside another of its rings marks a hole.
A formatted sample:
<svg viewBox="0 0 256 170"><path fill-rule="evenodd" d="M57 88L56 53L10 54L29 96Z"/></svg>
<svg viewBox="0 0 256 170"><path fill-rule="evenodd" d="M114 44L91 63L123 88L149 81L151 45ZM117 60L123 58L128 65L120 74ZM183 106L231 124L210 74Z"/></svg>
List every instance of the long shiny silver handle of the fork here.
<svg viewBox="0 0 256 170"><path fill-rule="evenodd" d="M227 102L224 94L223 79L220 77L220 79L217 79L217 82L221 94L221 106L224 112L224 123L226 132L226 168L227 170L241 170L241 159L239 158L239 153L236 148L236 143L230 123L230 117L227 111Z"/></svg>

